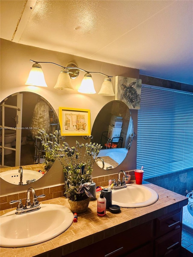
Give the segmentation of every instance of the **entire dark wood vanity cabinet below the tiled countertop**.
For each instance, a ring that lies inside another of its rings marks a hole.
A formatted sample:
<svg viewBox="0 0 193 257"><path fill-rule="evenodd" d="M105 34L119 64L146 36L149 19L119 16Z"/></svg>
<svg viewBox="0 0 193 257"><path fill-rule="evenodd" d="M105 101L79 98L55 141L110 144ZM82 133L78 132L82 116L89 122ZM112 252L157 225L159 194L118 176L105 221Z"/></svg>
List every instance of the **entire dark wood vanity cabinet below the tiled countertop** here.
<svg viewBox="0 0 193 257"><path fill-rule="evenodd" d="M65 257L178 257L182 236L182 209L130 228Z"/></svg>

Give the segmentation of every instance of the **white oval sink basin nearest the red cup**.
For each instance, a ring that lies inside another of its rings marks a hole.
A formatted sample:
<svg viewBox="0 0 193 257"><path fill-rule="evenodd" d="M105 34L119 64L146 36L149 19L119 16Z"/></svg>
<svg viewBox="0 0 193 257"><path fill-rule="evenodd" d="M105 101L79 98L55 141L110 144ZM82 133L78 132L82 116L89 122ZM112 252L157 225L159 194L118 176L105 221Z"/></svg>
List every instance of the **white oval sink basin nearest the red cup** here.
<svg viewBox="0 0 193 257"><path fill-rule="evenodd" d="M158 194L143 185L128 184L126 188L112 190L112 204L120 207L144 207L157 202Z"/></svg>

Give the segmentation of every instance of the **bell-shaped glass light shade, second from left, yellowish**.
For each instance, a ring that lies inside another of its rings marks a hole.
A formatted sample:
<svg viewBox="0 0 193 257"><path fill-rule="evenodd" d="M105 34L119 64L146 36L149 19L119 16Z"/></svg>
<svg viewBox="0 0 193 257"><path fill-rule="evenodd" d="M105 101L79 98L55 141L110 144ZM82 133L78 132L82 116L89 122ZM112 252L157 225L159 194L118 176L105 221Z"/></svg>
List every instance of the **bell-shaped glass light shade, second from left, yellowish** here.
<svg viewBox="0 0 193 257"><path fill-rule="evenodd" d="M55 89L60 89L60 90L74 90L72 87L71 83L71 78L69 76L69 72L67 69L62 69L60 72L57 82L54 86Z"/></svg>

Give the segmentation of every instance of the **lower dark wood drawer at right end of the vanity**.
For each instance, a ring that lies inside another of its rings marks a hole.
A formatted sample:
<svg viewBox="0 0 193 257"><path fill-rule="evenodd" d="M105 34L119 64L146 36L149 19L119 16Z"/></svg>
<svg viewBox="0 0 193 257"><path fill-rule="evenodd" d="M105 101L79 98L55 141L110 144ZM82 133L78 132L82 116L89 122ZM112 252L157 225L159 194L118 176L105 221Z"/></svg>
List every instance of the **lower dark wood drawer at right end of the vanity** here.
<svg viewBox="0 0 193 257"><path fill-rule="evenodd" d="M155 257L167 254L172 256L174 251L178 252L180 246L181 230L177 229L155 240Z"/></svg>

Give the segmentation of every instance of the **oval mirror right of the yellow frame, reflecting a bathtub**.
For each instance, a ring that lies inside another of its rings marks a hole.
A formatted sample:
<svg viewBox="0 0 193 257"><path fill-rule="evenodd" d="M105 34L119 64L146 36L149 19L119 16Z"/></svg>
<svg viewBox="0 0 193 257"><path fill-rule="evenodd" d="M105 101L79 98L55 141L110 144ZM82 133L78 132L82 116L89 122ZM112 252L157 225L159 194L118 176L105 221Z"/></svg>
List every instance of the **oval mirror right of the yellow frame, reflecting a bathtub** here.
<svg viewBox="0 0 193 257"><path fill-rule="evenodd" d="M105 170L120 165L128 154L134 135L128 106L119 100L107 103L96 116L91 134L91 141L103 147L96 158L97 165Z"/></svg>

